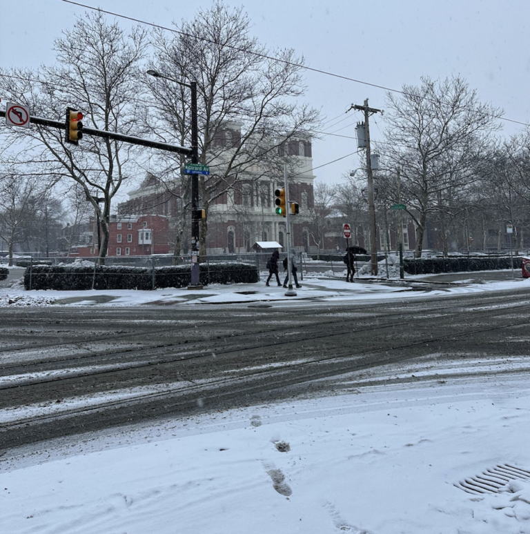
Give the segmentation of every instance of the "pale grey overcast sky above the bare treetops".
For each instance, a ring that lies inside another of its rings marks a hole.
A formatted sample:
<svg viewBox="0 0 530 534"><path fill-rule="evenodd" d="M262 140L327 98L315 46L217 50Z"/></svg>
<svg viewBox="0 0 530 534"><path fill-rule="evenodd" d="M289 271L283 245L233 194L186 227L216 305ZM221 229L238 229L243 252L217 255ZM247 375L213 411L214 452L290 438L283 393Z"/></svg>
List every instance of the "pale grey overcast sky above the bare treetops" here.
<svg viewBox="0 0 530 534"><path fill-rule="evenodd" d="M210 0L79 0L79 3L171 26L190 19ZM528 0L246 0L253 34L269 47L295 48L311 68L337 76L306 72L306 100L320 108L328 123L313 140L317 179L328 183L360 166L355 152L355 123L360 112L351 103L384 109L385 90L420 77L460 75L484 102L502 108L505 117L530 122L530 48ZM86 8L63 0L6 0L2 3L0 65L36 68L52 63L52 44ZM112 17L109 17L112 19ZM121 20L126 27L130 22ZM358 80L342 79L346 77ZM360 82L366 83L360 83ZM0 95L3 97L3 95ZM339 117L337 120L329 120ZM342 122L338 122L345 119ZM337 123L338 122L338 123ZM336 124L335 124L336 123ZM502 121L502 135L522 128ZM381 139L383 119L371 119L371 136ZM331 135L331 133L335 135ZM343 159L340 159L343 158ZM328 162L340 159L333 164Z"/></svg>

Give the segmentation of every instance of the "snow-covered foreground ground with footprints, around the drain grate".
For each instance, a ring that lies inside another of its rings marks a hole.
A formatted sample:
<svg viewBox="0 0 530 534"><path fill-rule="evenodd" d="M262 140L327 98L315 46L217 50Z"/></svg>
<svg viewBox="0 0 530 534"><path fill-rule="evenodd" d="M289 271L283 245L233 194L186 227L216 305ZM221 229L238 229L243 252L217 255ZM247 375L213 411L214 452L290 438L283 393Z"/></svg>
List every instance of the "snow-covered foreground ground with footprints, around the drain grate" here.
<svg viewBox="0 0 530 534"><path fill-rule="evenodd" d="M434 373L434 371L433 371ZM526 376L356 388L26 448L0 463L6 533L527 534Z"/></svg>

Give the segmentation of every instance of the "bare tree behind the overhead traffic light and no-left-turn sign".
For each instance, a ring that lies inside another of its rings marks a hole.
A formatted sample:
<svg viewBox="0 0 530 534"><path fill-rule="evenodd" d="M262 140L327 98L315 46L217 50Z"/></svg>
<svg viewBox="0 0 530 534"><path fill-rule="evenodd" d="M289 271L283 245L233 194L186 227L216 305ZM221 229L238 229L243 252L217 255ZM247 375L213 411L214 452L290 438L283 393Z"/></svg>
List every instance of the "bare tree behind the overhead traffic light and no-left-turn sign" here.
<svg viewBox="0 0 530 534"><path fill-rule="evenodd" d="M63 119L72 106L84 113L85 126L135 134L145 42L143 30L126 35L116 23L107 24L101 12L86 14L55 41L54 66L38 74L16 71L0 77L2 88L14 101L30 106L32 115ZM37 125L13 129L12 137L26 143L28 159L40 161L49 175L72 179L83 188L101 221L99 261L104 263L110 204L132 170L133 148L88 135L73 146L66 143L64 130Z"/></svg>

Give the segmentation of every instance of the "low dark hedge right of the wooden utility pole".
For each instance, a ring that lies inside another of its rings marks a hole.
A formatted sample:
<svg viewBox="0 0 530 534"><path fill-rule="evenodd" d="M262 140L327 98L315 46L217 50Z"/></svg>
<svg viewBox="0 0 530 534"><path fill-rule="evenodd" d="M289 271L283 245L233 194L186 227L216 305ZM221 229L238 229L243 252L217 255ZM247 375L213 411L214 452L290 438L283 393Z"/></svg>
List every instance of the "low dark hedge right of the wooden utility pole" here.
<svg viewBox="0 0 530 534"><path fill-rule="evenodd" d="M409 275L428 275L431 273L465 273L473 270L510 269L509 257L452 257L409 259L403 261L404 270ZM513 257L513 267L521 268L521 257Z"/></svg>

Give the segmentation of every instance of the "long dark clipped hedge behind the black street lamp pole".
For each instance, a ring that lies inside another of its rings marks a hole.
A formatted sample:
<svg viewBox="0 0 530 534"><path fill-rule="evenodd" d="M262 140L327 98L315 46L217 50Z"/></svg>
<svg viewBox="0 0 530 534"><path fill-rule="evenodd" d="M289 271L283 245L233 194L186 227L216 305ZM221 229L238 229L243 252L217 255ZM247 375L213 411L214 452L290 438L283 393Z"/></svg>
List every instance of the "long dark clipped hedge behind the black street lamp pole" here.
<svg viewBox="0 0 530 534"><path fill-rule="evenodd" d="M200 264L200 283L252 284L259 281L253 264L216 262ZM181 288L190 283L190 266L148 267L75 264L26 268L24 288L55 290Z"/></svg>

